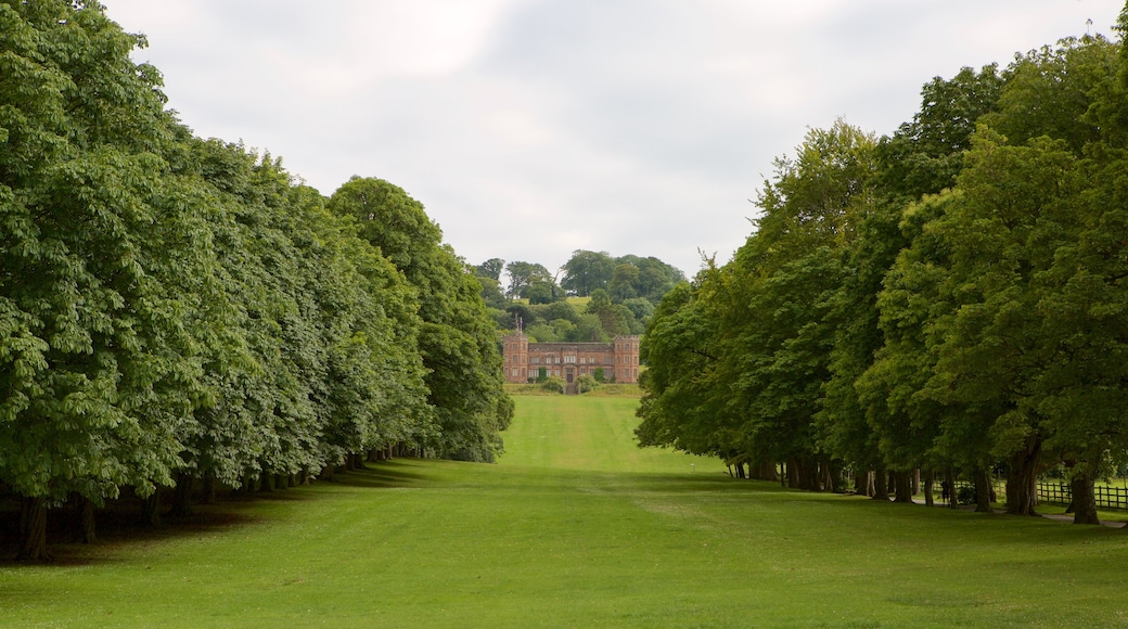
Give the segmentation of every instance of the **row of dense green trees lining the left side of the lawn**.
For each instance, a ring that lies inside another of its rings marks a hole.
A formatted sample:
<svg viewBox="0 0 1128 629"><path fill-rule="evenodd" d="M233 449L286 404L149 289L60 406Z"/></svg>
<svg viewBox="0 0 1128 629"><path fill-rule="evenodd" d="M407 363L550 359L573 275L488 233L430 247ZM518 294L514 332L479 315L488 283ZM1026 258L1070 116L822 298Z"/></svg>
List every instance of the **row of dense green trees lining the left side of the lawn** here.
<svg viewBox="0 0 1128 629"><path fill-rule="evenodd" d="M94 537L123 491L492 461L512 415L473 269L400 188L332 197L202 140L96 2L0 5L0 498ZM203 491L206 497L206 491Z"/></svg>

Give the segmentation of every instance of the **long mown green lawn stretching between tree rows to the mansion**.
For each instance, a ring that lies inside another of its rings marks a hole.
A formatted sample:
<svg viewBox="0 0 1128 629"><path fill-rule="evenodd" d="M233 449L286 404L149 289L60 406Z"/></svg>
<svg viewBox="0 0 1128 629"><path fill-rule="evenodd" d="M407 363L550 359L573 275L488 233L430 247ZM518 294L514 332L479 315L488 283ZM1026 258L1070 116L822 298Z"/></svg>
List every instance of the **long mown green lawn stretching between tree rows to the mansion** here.
<svg viewBox="0 0 1128 629"><path fill-rule="evenodd" d="M1128 624L1128 531L734 480L635 448L631 398L517 402L495 466L398 460L0 564L0 626Z"/></svg>

